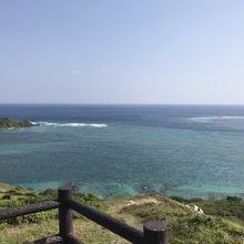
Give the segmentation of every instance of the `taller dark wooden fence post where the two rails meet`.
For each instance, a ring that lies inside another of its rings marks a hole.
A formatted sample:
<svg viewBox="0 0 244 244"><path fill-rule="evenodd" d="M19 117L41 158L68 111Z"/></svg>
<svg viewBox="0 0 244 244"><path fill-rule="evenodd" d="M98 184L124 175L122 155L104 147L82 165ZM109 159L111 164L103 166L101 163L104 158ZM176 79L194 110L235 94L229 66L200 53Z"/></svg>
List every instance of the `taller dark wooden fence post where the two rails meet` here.
<svg viewBox="0 0 244 244"><path fill-rule="evenodd" d="M67 202L72 200L72 186L67 185L59 187L59 232L62 237L62 243L69 243L69 236L73 234L72 211Z"/></svg>

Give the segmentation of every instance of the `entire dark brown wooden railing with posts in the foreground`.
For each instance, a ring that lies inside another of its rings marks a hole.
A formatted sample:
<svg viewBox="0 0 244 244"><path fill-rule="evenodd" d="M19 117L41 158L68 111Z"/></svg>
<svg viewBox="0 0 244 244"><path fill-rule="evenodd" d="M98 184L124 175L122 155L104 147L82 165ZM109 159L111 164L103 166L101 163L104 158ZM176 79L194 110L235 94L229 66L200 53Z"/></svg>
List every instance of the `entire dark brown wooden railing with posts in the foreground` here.
<svg viewBox="0 0 244 244"><path fill-rule="evenodd" d="M87 218L95 222L96 224L110 230L111 232L120 235L135 244L165 244L166 241L166 228L164 223L151 221L143 225L143 232L120 222L105 213L101 213L88 205L80 204L72 200L72 186L63 186L58 190L58 200L45 201L24 206L4 209L0 211L0 221L17 217L30 213L37 213L40 211L48 211L59 209L59 234L44 237L32 244L82 244L73 235L72 224L72 211L80 213Z"/></svg>

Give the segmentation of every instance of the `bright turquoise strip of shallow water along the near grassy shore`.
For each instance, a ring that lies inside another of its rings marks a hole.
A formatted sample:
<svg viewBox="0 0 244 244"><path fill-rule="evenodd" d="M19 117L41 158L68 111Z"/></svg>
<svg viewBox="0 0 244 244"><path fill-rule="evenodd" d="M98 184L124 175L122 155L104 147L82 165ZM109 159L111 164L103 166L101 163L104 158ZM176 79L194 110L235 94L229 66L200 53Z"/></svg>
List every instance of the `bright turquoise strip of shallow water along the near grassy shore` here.
<svg viewBox="0 0 244 244"><path fill-rule="evenodd" d="M193 187L192 185L186 186L180 186L174 187L170 191L156 191L151 185L146 184L139 184L139 185L130 185L130 184L122 184L122 183L114 183L112 184L113 187L116 186L118 192L113 190L112 192L106 192L106 189L111 189L110 184L105 185L102 184L100 187L96 187L96 183L92 184L84 184L81 182L31 182L31 183L10 183L13 185L22 185L23 187L33 189L35 191L44 191L47 189L57 190L59 186L65 185L65 184L73 184L77 185L77 189L79 192L89 193L93 192L95 195L102 197L102 199L109 199L109 197L120 197L120 196L126 196L126 195L141 195L146 193L154 193L163 196L176 196L182 197L186 200L191 199L204 199L204 200L221 200L226 199L227 196L237 196L241 199L244 199L244 192L238 189L233 187L225 187L225 186L215 186L215 185L207 185L203 189L201 187ZM114 194L115 193L115 194Z"/></svg>

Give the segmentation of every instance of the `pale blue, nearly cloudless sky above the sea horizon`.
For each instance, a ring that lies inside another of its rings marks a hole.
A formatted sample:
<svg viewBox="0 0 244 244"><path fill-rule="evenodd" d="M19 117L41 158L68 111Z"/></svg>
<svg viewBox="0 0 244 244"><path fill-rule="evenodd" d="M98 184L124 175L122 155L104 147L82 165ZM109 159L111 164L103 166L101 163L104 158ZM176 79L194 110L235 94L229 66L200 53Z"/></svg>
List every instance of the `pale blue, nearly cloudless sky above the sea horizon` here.
<svg viewBox="0 0 244 244"><path fill-rule="evenodd" d="M0 103L244 104L243 0L0 1Z"/></svg>

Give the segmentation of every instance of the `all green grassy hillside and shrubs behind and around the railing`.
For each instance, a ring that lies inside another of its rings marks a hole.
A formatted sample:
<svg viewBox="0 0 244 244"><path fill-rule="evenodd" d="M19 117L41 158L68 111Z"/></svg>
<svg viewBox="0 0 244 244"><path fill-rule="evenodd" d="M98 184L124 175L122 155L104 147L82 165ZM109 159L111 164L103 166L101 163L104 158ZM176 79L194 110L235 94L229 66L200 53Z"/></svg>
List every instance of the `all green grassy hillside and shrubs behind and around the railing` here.
<svg viewBox="0 0 244 244"><path fill-rule="evenodd" d="M0 184L0 191L10 194L10 200L0 200L0 207L22 205L47 199L55 199L57 193L47 190L42 193L22 187ZM16 190L14 190L16 189ZM10 192L11 191L11 192ZM20 193L18 195L18 193ZM27 191L27 195L24 195ZM32 195L30 195L32 194ZM1 196L4 196L2 194ZM142 230L150 220L164 221L167 225L170 243L244 243L244 202L238 197L223 200L184 200L163 197L156 194L123 196L100 200L93 194L75 194L75 200ZM175 201L176 200L176 201ZM196 204L204 214L197 214L186 207ZM31 224L30 224L31 223ZM24 243L58 233L57 211L30 214L21 218L2 222L0 243ZM119 236L75 214L74 233L85 243L128 243Z"/></svg>

